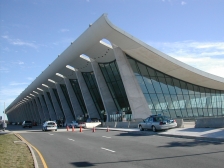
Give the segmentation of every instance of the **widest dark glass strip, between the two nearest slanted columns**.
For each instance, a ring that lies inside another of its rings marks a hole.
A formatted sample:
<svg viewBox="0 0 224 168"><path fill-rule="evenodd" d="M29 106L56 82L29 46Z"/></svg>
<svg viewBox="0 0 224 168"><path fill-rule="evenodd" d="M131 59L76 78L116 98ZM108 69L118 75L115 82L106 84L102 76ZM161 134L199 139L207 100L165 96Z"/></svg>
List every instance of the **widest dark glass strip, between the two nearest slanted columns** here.
<svg viewBox="0 0 224 168"><path fill-rule="evenodd" d="M117 111L131 114L131 108L116 61L99 63L99 67L110 90L114 103L116 104Z"/></svg>

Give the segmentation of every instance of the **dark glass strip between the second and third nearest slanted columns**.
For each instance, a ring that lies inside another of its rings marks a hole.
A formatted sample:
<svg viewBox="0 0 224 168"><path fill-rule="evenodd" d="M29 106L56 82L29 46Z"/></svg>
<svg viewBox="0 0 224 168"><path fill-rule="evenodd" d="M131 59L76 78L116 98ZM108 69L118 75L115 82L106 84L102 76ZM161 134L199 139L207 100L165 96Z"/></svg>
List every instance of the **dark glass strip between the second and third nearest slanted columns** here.
<svg viewBox="0 0 224 168"><path fill-rule="evenodd" d="M104 109L103 101L100 96L98 85L96 83L96 78L95 78L94 73L93 72L82 72L82 75L83 75L83 78L87 85L87 88L89 89L89 92L90 92L93 102L96 106L96 109L99 113L100 119L105 120L105 118L104 118L105 109Z"/></svg>

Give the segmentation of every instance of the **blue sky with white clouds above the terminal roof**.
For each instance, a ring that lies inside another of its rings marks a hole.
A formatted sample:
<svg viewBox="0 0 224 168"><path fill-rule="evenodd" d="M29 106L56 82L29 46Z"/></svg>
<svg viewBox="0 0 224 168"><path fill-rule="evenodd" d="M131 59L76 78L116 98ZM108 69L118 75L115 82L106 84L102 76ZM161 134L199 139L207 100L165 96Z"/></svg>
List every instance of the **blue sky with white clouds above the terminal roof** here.
<svg viewBox="0 0 224 168"><path fill-rule="evenodd" d="M0 116L103 13L136 38L224 77L223 0L1 0Z"/></svg>

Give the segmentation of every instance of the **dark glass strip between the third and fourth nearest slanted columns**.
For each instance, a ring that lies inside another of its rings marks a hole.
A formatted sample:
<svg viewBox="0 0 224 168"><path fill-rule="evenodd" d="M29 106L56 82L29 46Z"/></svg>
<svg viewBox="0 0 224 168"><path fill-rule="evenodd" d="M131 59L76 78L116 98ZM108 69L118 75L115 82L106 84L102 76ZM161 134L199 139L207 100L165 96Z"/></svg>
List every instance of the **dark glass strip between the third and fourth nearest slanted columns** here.
<svg viewBox="0 0 224 168"><path fill-rule="evenodd" d="M70 82L71 82L72 88L74 90L74 93L76 95L76 98L79 102L79 105L82 109L83 115L87 116L86 105L85 105L85 102L84 102L83 97L82 97L82 92L81 92L81 89L79 87L78 80L77 79L70 79Z"/></svg>

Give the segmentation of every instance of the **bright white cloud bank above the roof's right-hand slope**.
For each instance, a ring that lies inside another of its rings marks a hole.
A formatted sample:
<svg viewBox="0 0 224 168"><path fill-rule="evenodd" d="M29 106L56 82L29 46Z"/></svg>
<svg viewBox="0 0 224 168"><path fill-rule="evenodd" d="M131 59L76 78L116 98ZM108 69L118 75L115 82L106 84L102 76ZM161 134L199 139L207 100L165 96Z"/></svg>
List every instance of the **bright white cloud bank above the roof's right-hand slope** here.
<svg viewBox="0 0 224 168"><path fill-rule="evenodd" d="M224 77L224 42L183 41L149 44L190 66Z"/></svg>

